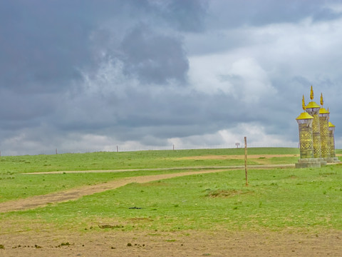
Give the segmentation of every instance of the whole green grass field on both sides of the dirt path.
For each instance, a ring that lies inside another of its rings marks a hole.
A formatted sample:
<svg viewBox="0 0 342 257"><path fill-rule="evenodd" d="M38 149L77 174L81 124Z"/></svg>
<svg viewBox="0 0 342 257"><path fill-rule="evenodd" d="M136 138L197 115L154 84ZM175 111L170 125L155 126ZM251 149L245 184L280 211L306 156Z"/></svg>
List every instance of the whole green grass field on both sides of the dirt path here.
<svg viewBox="0 0 342 257"><path fill-rule="evenodd" d="M296 148L250 148L249 155L286 156L259 156L249 163L262 165L258 159L263 163L294 163L298 159L294 155L298 153ZM243 158L229 158L243 154L243 149L202 149L1 157L0 203L128 176L182 172L187 169L25 174L31 171L243 165ZM194 158L196 156L227 158ZM342 166L339 164L322 168L250 170L249 186L245 186L244 169L227 169L150 183L130 183L114 190L84 196L77 201L0 213L0 223L19 224L7 226L3 233L11 233L13 229L39 231L40 228L50 227L84 233L107 229L151 233L217 229L341 230L341 181ZM37 228L36 224L40 226ZM100 224L112 227L103 229L99 228Z"/></svg>

